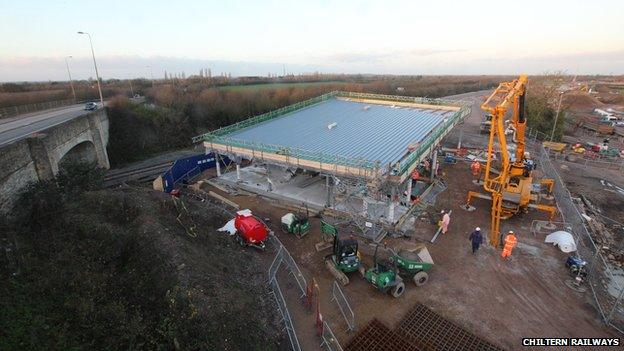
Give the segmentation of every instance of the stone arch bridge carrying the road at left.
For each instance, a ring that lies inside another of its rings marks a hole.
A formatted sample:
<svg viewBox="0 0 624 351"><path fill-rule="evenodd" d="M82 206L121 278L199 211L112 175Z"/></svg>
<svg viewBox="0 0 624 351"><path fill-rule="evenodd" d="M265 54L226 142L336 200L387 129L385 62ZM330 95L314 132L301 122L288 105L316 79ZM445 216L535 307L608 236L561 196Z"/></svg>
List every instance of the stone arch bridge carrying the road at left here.
<svg viewBox="0 0 624 351"><path fill-rule="evenodd" d="M23 187L49 180L70 161L108 169L108 116L84 105L0 119L0 213L10 211Z"/></svg>

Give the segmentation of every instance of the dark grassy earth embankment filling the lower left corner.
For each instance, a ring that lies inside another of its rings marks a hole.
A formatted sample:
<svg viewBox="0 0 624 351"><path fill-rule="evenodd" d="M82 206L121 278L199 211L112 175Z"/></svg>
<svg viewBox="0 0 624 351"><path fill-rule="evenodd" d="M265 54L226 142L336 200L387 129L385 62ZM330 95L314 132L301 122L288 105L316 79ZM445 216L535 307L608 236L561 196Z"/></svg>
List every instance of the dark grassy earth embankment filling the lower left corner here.
<svg viewBox="0 0 624 351"><path fill-rule="evenodd" d="M19 243L0 349L283 349L259 253L218 210L142 188L36 199L40 226L0 228Z"/></svg>

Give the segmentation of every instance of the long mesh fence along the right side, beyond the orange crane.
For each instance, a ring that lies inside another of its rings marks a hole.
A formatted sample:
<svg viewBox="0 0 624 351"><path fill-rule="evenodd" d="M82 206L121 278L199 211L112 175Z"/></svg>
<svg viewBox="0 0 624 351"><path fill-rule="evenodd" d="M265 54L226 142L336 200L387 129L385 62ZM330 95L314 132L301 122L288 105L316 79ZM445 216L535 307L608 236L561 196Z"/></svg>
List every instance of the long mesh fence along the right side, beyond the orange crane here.
<svg viewBox="0 0 624 351"><path fill-rule="evenodd" d="M624 287L614 277L613 268L601 254L599 245L596 245L585 225L581 211L552 164L548 151L541 145L539 160L538 167L543 176L555 180L553 195L564 222L568 224L569 231L577 238L577 254L588 262L588 285L591 288L596 308L605 324L624 333L624 308L620 307L624 297Z"/></svg>

